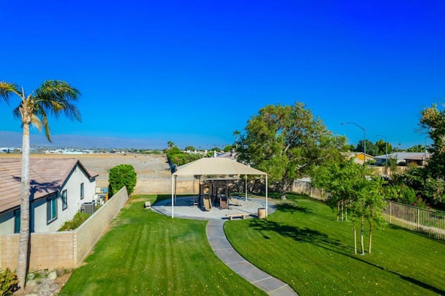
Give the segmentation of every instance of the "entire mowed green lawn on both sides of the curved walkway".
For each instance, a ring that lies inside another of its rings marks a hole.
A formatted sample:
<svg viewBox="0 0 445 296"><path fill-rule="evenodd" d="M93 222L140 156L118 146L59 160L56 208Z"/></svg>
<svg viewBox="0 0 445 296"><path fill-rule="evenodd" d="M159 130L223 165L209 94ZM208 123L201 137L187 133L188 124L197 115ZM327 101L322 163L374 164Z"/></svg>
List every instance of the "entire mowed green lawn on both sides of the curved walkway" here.
<svg viewBox="0 0 445 296"><path fill-rule="evenodd" d="M225 231L300 295L445 295L445 242L387 226L375 231L372 254L355 255L349 222L321 202L289 197L267 219L228 221ZM207 222L143 209L155 199L131 199L60 295L264 295L213 254Z"/></svg>

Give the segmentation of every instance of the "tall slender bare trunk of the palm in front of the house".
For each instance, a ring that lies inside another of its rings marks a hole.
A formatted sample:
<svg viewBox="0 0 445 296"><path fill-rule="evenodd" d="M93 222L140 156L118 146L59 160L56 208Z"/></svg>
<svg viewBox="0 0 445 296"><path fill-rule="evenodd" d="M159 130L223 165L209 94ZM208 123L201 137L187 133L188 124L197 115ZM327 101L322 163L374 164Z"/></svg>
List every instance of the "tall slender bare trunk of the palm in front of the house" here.
<svg viewBox="0 0 445 296"><path fill-rule="evenodd" d="M23 124L22 136L22 180L20 182L20 234L19 258L17 261L17 277L19 286L25 287L26 271L28 270L29 254L29 124Z"/></svg>

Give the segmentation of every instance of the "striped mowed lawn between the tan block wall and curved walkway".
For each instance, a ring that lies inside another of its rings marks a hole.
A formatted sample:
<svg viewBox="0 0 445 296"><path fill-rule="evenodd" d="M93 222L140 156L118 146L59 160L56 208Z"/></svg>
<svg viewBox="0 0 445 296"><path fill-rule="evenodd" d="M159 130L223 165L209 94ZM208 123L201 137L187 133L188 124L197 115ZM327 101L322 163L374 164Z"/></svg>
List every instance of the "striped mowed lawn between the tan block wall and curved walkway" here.
<svg viewBox="0 0 445 296"><path fill-rule="evenodd" d="M145 210L133 197L60 295L265 295L213 253L206 221Z"/></svg>

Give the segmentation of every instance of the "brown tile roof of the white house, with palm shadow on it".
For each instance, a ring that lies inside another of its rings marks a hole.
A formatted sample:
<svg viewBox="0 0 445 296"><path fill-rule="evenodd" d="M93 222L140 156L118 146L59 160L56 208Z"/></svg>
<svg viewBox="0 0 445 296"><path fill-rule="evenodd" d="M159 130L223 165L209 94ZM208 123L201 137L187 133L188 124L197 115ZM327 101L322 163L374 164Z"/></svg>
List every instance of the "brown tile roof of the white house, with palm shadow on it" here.
<svg viewBox="0 0 445 296"><path fill-rule="evenodd" d="M39 199L57 192L70 175L76 164L91 178L91 174L75 158L31 158L30 199ZM0 158L0 213L20 205L20 180L22 179L22 158Z"/></svg>

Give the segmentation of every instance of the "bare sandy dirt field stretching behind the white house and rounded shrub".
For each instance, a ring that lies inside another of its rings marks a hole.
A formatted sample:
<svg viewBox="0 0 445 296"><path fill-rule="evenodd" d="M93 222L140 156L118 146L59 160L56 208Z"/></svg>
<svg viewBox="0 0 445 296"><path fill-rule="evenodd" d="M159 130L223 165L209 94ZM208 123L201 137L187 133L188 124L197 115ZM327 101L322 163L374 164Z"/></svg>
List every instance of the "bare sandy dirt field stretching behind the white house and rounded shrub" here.
<svg viewBox="0 0 445 296"><path fill-rule="evenodd" d="M20 154L0 154L0 158L19 158ZM138 179L170 179L165 154L31 154L31 158L77 158L97 180L108 181L108 171L116 165L133 165Z"/></svg>

